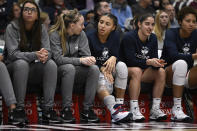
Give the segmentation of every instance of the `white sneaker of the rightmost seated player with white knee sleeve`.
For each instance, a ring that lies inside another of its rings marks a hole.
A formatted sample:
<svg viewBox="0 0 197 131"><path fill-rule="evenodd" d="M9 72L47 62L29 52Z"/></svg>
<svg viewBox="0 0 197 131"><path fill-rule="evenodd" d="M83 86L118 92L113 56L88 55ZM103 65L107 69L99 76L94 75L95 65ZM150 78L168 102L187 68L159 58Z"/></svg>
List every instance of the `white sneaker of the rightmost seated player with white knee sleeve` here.
<svg viewBox="0 0 197 131"><path fill-rule="evenodd" d="M183 112L182 107L173 107L171 120L177 122L188 122L191 118Z"/></svg>

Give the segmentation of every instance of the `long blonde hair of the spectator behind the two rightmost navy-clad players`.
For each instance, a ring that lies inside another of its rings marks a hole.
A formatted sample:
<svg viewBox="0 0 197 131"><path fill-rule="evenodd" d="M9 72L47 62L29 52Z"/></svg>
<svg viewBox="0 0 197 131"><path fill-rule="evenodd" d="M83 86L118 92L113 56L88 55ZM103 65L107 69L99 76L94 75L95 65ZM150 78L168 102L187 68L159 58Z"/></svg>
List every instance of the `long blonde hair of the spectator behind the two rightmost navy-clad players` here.
<svg viewBox="0 0 197 131"><path fill-rule="evenodd" d="M159 41L162 41L162 36L163 36L163 33L164 33L164 30L162 29L161 27L161 24L160 24L160 15L165 12L164 10L160 10L157 14L156 14L156 17L155 17L155 27L154 27L154 32L155 32L155 35L157 36L157 39ZM165 12L166 13L166 12ZM166 13L167 14L167 13ZM168 21L168 25L166 27L169 28L170 27L170 20Z"/></svg>

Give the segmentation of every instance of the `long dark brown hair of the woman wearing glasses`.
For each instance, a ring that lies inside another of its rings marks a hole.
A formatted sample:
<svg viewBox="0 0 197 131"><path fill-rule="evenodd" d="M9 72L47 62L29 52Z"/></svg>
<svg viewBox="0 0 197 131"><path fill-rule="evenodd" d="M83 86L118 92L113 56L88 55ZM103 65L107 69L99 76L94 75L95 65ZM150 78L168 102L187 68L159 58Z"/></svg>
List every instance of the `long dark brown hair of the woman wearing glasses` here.
<svg viewBox="0 0 197 131"><path fill-rule="evenodd" d="M27 46L27 36L25 32L25 21L23 19L23 10L24 6L27 3L31 3L36 6L37 14L38 14L38 19L34 22L33 28L31 30L31 36L32 36L32 50L29 49ZM21 8L21 15L19 18L19 27L20 27L20 44L19 48L21 51L36 51L39 50L41 47L41 20L40 20L40 10L38 5L31 0L27 0L23 3L22 8Z"/></svg>

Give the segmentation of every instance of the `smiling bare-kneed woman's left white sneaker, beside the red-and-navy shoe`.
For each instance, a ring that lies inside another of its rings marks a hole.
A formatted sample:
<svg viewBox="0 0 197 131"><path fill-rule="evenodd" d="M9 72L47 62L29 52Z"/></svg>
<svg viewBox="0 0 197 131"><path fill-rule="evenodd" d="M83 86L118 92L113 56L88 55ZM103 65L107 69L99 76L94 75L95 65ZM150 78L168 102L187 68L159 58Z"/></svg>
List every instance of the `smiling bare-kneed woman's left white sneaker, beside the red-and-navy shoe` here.
<svg viewBox="0 0 197 131"><path fill-rule="evenodd" d="M142 115L142 113L140 112L139 107L134 107L131 109L130 111L133 115L132 120L136 121L136 122L141 122L145 120L145 117Z"/></svg>

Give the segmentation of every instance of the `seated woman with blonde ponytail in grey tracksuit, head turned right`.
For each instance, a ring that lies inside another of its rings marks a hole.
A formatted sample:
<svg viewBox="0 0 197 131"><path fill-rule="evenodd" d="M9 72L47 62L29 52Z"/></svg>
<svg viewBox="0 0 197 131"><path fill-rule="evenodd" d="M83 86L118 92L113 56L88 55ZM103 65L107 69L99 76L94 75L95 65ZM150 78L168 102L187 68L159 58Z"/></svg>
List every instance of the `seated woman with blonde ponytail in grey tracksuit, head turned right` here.
<svg viewBox="0 0 197 131"><path fill-rule="evenodd" d="M58 65L58 75L61 81L62 112L64 122L73 123L72 91L74 80L85 83L85 96L81 120L98 122L99 119L92 110L96 88L99 79L99 68L91 56L88 39L82 31L84 18L77 10L61 14L54 26L51 27L50 41L53 59ZM82 77L83 76L83 77Z"/></svg>

